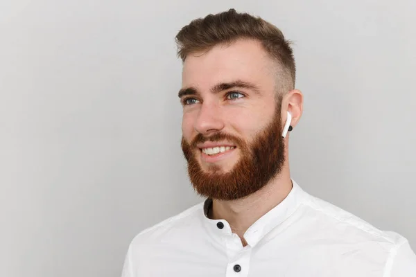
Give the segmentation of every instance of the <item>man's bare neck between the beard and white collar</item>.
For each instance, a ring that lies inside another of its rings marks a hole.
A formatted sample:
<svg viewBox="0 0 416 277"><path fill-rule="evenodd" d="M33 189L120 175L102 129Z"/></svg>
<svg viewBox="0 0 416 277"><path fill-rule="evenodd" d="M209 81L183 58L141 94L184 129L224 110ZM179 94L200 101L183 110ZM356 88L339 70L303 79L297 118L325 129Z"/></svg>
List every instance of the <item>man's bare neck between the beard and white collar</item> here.
<svg viewBox="0 0 416 277"><path fill-rule="evenodd" d="M282 170L279 176L248 197L229 201L214 199L211 217L214 220L227 220L232 232L239 235L245 246L245 231L282 202L291 192L292 186L288 170Z"/></svg>

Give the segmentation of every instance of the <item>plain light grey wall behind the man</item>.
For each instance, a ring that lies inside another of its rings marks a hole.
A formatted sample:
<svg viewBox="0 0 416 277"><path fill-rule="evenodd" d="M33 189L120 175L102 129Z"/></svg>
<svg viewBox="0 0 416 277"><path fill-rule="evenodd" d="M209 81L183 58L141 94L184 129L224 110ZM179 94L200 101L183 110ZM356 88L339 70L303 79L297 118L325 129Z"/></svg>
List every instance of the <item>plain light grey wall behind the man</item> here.
<svg viewBox="0 0 416 277"><path fill-rule="evenodd" d="M416 1L0 1L0 276L119 276L200 202L173 37L228 8L295 42L293 178L416 248Z"/></svg>

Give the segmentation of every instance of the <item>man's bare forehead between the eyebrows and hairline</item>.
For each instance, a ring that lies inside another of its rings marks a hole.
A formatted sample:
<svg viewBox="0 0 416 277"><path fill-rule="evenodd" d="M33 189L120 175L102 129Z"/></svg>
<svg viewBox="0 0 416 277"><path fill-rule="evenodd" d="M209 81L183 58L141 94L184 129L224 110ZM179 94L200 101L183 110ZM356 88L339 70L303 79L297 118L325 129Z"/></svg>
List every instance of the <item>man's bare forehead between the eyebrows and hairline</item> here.
<svg viewBox="0 0 416 277"><path fill-rule="evenodd" d="M218 82L243 80L262 87L275 84L275 62L260 42L239 40L189 55L182 71L182 87L205 89Z"/></svg>

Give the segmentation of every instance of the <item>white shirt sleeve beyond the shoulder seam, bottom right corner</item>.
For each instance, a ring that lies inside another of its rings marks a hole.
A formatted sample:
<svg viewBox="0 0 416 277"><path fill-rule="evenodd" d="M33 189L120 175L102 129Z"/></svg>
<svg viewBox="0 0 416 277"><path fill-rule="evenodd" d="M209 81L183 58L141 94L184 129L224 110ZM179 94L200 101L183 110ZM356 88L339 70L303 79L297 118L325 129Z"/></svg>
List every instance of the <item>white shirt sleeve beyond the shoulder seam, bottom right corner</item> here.
<svg viewBox="0 0 416 277"><path fill-rule="evenodd" d="M388 277L415 277L416 276L416 255L410 248L409 242L404 240L390 253L390 260L386 267L384 276ZM390 271L390 274L389 272Z"/></svg>

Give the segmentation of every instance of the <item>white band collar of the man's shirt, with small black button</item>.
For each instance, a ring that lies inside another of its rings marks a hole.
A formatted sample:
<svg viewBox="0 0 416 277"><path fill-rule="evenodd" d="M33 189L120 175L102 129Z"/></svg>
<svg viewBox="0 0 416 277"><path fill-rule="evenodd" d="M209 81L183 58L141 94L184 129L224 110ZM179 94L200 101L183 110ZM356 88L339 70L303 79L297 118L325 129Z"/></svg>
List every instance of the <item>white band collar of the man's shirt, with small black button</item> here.
<svg viewBox="0 0 416 277"><path fill-rule="evenodd" d="M265 235L272 231L272 229L275 229L276 226L290 217L300 204L302 204L305 193L293 179L292 184L293 187L288 196L275 206L275 208L272 208L268 213L254 222L254 224L252 224L245 232L245 241L251 247L254 247ZM207 224L207 227L211 229L213 235L218 234L220 237L223 235L232 235L231 227L228 222L225 220L209 219L211 208L212 199L206 199L203 205L204 221Z"/></svg>

